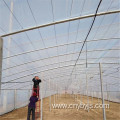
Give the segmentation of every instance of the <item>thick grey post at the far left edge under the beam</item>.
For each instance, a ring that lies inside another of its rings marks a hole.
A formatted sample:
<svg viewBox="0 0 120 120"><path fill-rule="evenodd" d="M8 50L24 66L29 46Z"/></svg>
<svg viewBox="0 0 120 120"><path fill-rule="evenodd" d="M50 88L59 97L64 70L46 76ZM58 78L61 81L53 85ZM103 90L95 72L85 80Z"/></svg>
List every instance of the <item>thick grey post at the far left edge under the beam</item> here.
<svg viewBox="0 0 120 120"><path fill-rule="evenodd" d="M2 81L2 56L3 56L3 39L0 37L0 90Z"/></svg>

